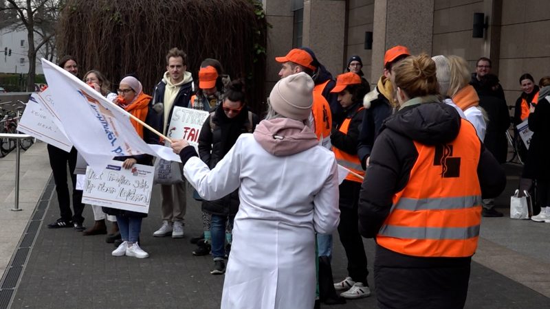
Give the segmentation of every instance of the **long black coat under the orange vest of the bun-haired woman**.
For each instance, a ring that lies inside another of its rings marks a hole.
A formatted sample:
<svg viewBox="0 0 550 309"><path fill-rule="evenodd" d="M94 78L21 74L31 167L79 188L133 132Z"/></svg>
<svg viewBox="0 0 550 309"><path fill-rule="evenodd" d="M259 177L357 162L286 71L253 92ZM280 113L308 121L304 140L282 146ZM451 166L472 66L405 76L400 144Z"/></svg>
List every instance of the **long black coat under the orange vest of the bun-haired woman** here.
<svg viewBox="0 0 550 309"><path fill-rule="evenodd" d="M439 102L406 106L386 119L375 141L360 192L358 212L362 236L377 235L390 214L393 195L406 187L418 158L413 141L445 144L456 138L460 126L461 117L456 109ZM504 170L483 144L477 174L483 198L496 197L504 190ZM457 302L463 305L465 301L469 265L470 258L419 258L377 246L374 268L378 305L382 308L461 308ZM423 291L434 288L434 282L447 285L437 286L442 290L435 293L439 297L434 297L434 293L419 297ZM399 297L395 299L394 295Z"/></svg>

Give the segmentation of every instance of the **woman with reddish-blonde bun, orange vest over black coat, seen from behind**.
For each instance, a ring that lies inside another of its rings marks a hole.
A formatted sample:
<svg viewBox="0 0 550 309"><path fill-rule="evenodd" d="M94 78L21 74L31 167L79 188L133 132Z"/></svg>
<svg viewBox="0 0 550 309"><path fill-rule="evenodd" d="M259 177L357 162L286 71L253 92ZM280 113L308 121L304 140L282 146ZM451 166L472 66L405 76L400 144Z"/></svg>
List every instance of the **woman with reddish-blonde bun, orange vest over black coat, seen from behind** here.
<svg viewBox="0 0 550 309"><path fill-rule="evenodd" d="M481 224L503 168L474 126L440 101L426 54L397 65L399 111L386 119L362 183L362 236L376 238L380 308L463 308Z"/></svg>

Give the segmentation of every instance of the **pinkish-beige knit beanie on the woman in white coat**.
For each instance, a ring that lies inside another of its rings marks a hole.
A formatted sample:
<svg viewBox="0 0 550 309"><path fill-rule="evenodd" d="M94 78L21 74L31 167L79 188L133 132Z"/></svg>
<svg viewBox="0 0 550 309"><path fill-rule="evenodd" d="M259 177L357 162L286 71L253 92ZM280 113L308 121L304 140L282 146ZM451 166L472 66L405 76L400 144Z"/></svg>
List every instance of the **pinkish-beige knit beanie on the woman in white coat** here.
<svg viewBox="0 0 550 309"><path fill-rule="evenodd" d="M270 93L274 111L287 118L304 120L311 113L314 102L314 80L304 72L279 80Z"/></svg>

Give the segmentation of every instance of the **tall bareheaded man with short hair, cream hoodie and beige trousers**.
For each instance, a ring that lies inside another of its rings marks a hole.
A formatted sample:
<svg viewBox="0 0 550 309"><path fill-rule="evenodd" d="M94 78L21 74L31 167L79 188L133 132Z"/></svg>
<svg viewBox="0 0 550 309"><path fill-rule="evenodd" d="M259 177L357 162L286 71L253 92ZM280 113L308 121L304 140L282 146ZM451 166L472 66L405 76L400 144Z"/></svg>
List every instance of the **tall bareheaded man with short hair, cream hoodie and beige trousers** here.
<svg viewBox="0 0 550 309"><path fill-rule="evenodd" d="M149 113L155 128L166 135L174 106L186 107L192 91L192 76L187 71L187 55L174 47L166 54L166 72L153 91L151 106L157 113ZM182 167L183 168L183 167ZM161 185L162 226L153 233L155 237L172 235L184 237L186 212L185 183Z"/></svg>

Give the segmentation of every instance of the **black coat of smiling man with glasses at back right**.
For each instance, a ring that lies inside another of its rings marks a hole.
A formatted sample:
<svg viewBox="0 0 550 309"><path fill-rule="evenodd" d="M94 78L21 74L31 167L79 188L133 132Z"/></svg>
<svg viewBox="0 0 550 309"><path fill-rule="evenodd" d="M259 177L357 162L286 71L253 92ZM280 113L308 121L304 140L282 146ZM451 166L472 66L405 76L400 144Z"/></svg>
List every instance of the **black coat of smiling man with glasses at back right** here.
<svg viewBox="0 0 550 309"><path fill-rule="evenodd" d="M485 131L483 144L493 154L499 163L505 163L508 155L508 140L506 131L510 126L510 115L506 101L487 93L487 91L478 92L479 106L487 113L489 121Z"/></svg>

